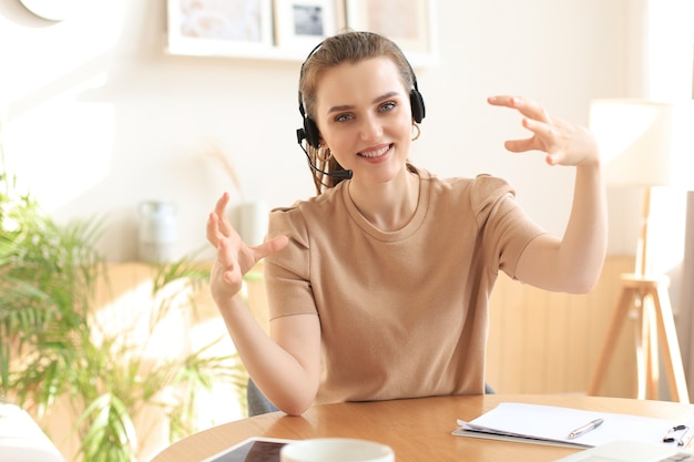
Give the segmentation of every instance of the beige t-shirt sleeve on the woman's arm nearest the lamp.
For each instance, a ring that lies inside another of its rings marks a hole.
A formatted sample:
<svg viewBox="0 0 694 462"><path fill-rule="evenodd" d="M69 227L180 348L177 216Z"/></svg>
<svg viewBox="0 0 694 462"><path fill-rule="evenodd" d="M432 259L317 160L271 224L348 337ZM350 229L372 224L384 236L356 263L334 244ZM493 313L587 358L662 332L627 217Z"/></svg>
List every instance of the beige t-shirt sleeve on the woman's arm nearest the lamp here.
<svg viewBox="0 0 694 462"><path fill-rule="evenodd" d="M478 176L470 201L482 229L489 267L501 269L516 279L516 267L523 249L547 230L528 216L516 201L516 191L502 178Z"/></svg>

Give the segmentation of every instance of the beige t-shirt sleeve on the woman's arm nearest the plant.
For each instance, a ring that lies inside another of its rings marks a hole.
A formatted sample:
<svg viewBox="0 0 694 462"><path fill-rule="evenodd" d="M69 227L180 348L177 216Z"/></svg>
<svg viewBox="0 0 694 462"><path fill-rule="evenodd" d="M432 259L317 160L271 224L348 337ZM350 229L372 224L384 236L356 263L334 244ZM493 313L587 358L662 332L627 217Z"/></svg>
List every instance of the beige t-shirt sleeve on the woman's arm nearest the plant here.
<svg viewBox="0 0 694 462"><path fill-rule="evenodd" d="M271 212L268 237L285 235L285 248L265 258L265 287L269 320L292 315L315 315L309 275L309 235L299 206Z"/></svg>

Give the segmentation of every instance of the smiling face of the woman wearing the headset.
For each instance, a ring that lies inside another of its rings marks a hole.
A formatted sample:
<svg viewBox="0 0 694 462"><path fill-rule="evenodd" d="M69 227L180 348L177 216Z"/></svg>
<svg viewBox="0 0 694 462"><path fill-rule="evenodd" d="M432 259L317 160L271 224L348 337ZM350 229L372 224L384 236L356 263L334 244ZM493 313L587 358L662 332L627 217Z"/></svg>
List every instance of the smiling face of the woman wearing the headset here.
<svg viewBox="0 0 694 462"><path fill-rule="evenodd" d="M355 181L384 183L404 171L412 114L409 91L390 59L326 70L317 85L315 122L324 146Z"/></svg>

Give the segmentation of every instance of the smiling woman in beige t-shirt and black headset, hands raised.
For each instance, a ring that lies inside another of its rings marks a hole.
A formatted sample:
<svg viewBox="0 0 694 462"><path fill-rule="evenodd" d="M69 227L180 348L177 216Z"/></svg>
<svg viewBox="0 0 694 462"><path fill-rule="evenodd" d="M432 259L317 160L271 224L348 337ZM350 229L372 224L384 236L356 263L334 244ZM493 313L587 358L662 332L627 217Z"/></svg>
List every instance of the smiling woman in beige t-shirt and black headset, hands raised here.
<svg viewBox="0 0 694 462"><path fill-rule="evenodd" d="M302 66L299 97L318 195L269 216L268 239L248 247L224 218L207 222L217 248L211 290L251 377L278 409L313 403L482 393L488 299L499 269L525 284L585 292L605 254L604 186L590 133L522 97L542 151L575 167L562 238L529 219L500 178L437 176L408 163L423 102L391 41L346 32ZM325 168L325 170L324 170ZM336 174L336 172L338 172ZM266 336L244 307L243 275L265 258Z"/></svg>

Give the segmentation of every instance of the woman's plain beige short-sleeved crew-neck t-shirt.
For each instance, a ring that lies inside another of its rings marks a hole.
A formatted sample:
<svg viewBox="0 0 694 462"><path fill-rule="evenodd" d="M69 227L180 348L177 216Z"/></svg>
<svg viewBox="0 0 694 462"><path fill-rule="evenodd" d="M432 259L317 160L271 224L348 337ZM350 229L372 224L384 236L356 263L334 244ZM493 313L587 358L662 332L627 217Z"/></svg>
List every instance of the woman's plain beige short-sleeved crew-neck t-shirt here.
<svg viewBox="0 0 694 462"><path fill-rule="evenodd" d="M347 184L271 213L289 244L265 260L272 319L317 314L316 403L482 393L488 300L543 230L503 179L441 179L418 170L411 220L384 233Z"/></svg>

